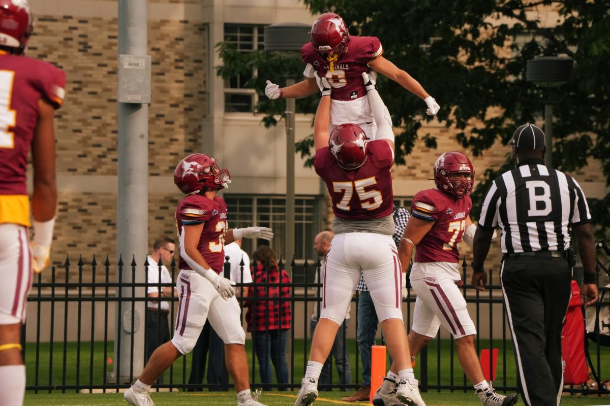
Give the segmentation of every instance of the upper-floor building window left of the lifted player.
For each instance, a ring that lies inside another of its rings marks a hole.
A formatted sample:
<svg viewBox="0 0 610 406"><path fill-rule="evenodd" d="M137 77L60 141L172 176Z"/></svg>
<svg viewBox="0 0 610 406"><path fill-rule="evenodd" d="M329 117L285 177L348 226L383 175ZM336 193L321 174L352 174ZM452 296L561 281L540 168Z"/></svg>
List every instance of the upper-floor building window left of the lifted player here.
<svg viewBox="0 0 610 406"><path fill-rule="evenodd" d="M265 46L265 26L224 24L224 42L240 52L262 50ZM258 101L254 89L246 88L246 82L256 72L235 75L224 81L224 111L250 113Z"/></svg>

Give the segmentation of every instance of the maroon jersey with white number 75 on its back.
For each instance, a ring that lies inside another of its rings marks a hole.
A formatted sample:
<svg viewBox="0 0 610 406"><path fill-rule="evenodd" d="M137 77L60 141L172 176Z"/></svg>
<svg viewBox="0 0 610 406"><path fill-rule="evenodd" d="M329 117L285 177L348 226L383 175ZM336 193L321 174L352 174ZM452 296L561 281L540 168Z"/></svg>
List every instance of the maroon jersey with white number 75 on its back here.
<svg viewBox="0 0 610 406"><path fill-rule="evenodd" d="M358 169L339 166L329 147L316 151L315 173L326 182L332 198L332 211L349 220L381 219L392 214L394 203L392 149L386 140L369 141L367 160Z"/></svg>

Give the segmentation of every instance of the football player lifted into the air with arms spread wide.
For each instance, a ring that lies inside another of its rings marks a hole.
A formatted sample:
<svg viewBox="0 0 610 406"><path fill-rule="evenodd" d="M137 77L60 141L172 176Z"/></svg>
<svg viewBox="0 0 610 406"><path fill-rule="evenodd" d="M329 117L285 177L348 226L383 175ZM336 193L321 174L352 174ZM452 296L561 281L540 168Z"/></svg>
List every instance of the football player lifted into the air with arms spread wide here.
<svg viewBox="0 0 610 406"><path fill-rule="evenodd" d="M371 105L365 97L367 91L361 77L362 72L375 71L423 99L428 106L426 113L434 116L440 110L436 100L426 93L417 80L382 54L379 38L350 35L343 18L335 13L324 13L311 27L311 41L301 47L301 58L306 63L303 72L306 79L287 88L279 88L267 80L265 94L271 100L314 94L318 89L314 77L314 72L317 72L318 76L326 77L332 86L329 131L349 122L359 125L368 138L375 139Z"/></svg>

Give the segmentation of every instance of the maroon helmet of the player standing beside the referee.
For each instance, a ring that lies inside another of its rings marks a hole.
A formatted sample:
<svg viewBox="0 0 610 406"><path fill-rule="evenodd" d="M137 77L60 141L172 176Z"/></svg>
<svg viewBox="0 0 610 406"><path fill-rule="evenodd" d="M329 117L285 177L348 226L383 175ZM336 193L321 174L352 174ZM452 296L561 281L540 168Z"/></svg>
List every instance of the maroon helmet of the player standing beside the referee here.
<svg viewBox="0 0 610 406"><path fill-rule="evenodd" d="M434 163L434 182L441 191L462 198L472 192L475 169L463 153L445 152Z"/></svg>

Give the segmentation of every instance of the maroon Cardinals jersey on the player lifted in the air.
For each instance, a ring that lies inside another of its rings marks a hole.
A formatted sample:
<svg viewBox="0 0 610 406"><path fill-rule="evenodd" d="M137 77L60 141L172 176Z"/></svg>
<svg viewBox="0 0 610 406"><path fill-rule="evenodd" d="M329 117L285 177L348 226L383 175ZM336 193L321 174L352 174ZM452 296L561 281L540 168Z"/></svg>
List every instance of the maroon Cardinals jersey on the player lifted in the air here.
<svg viewBox="0 0 610 406"><path fill-rule="evenodd" d="M353 100L367 94L362 82L362 72L368 72L368 61L379 57L383 48L377 37L356 37L350 35L347 51L334 62L333 71L326 58L318 54L312 43L301 47L301 58L310 63L320 77L326 77L332 85L331 99Z"/></svg>

